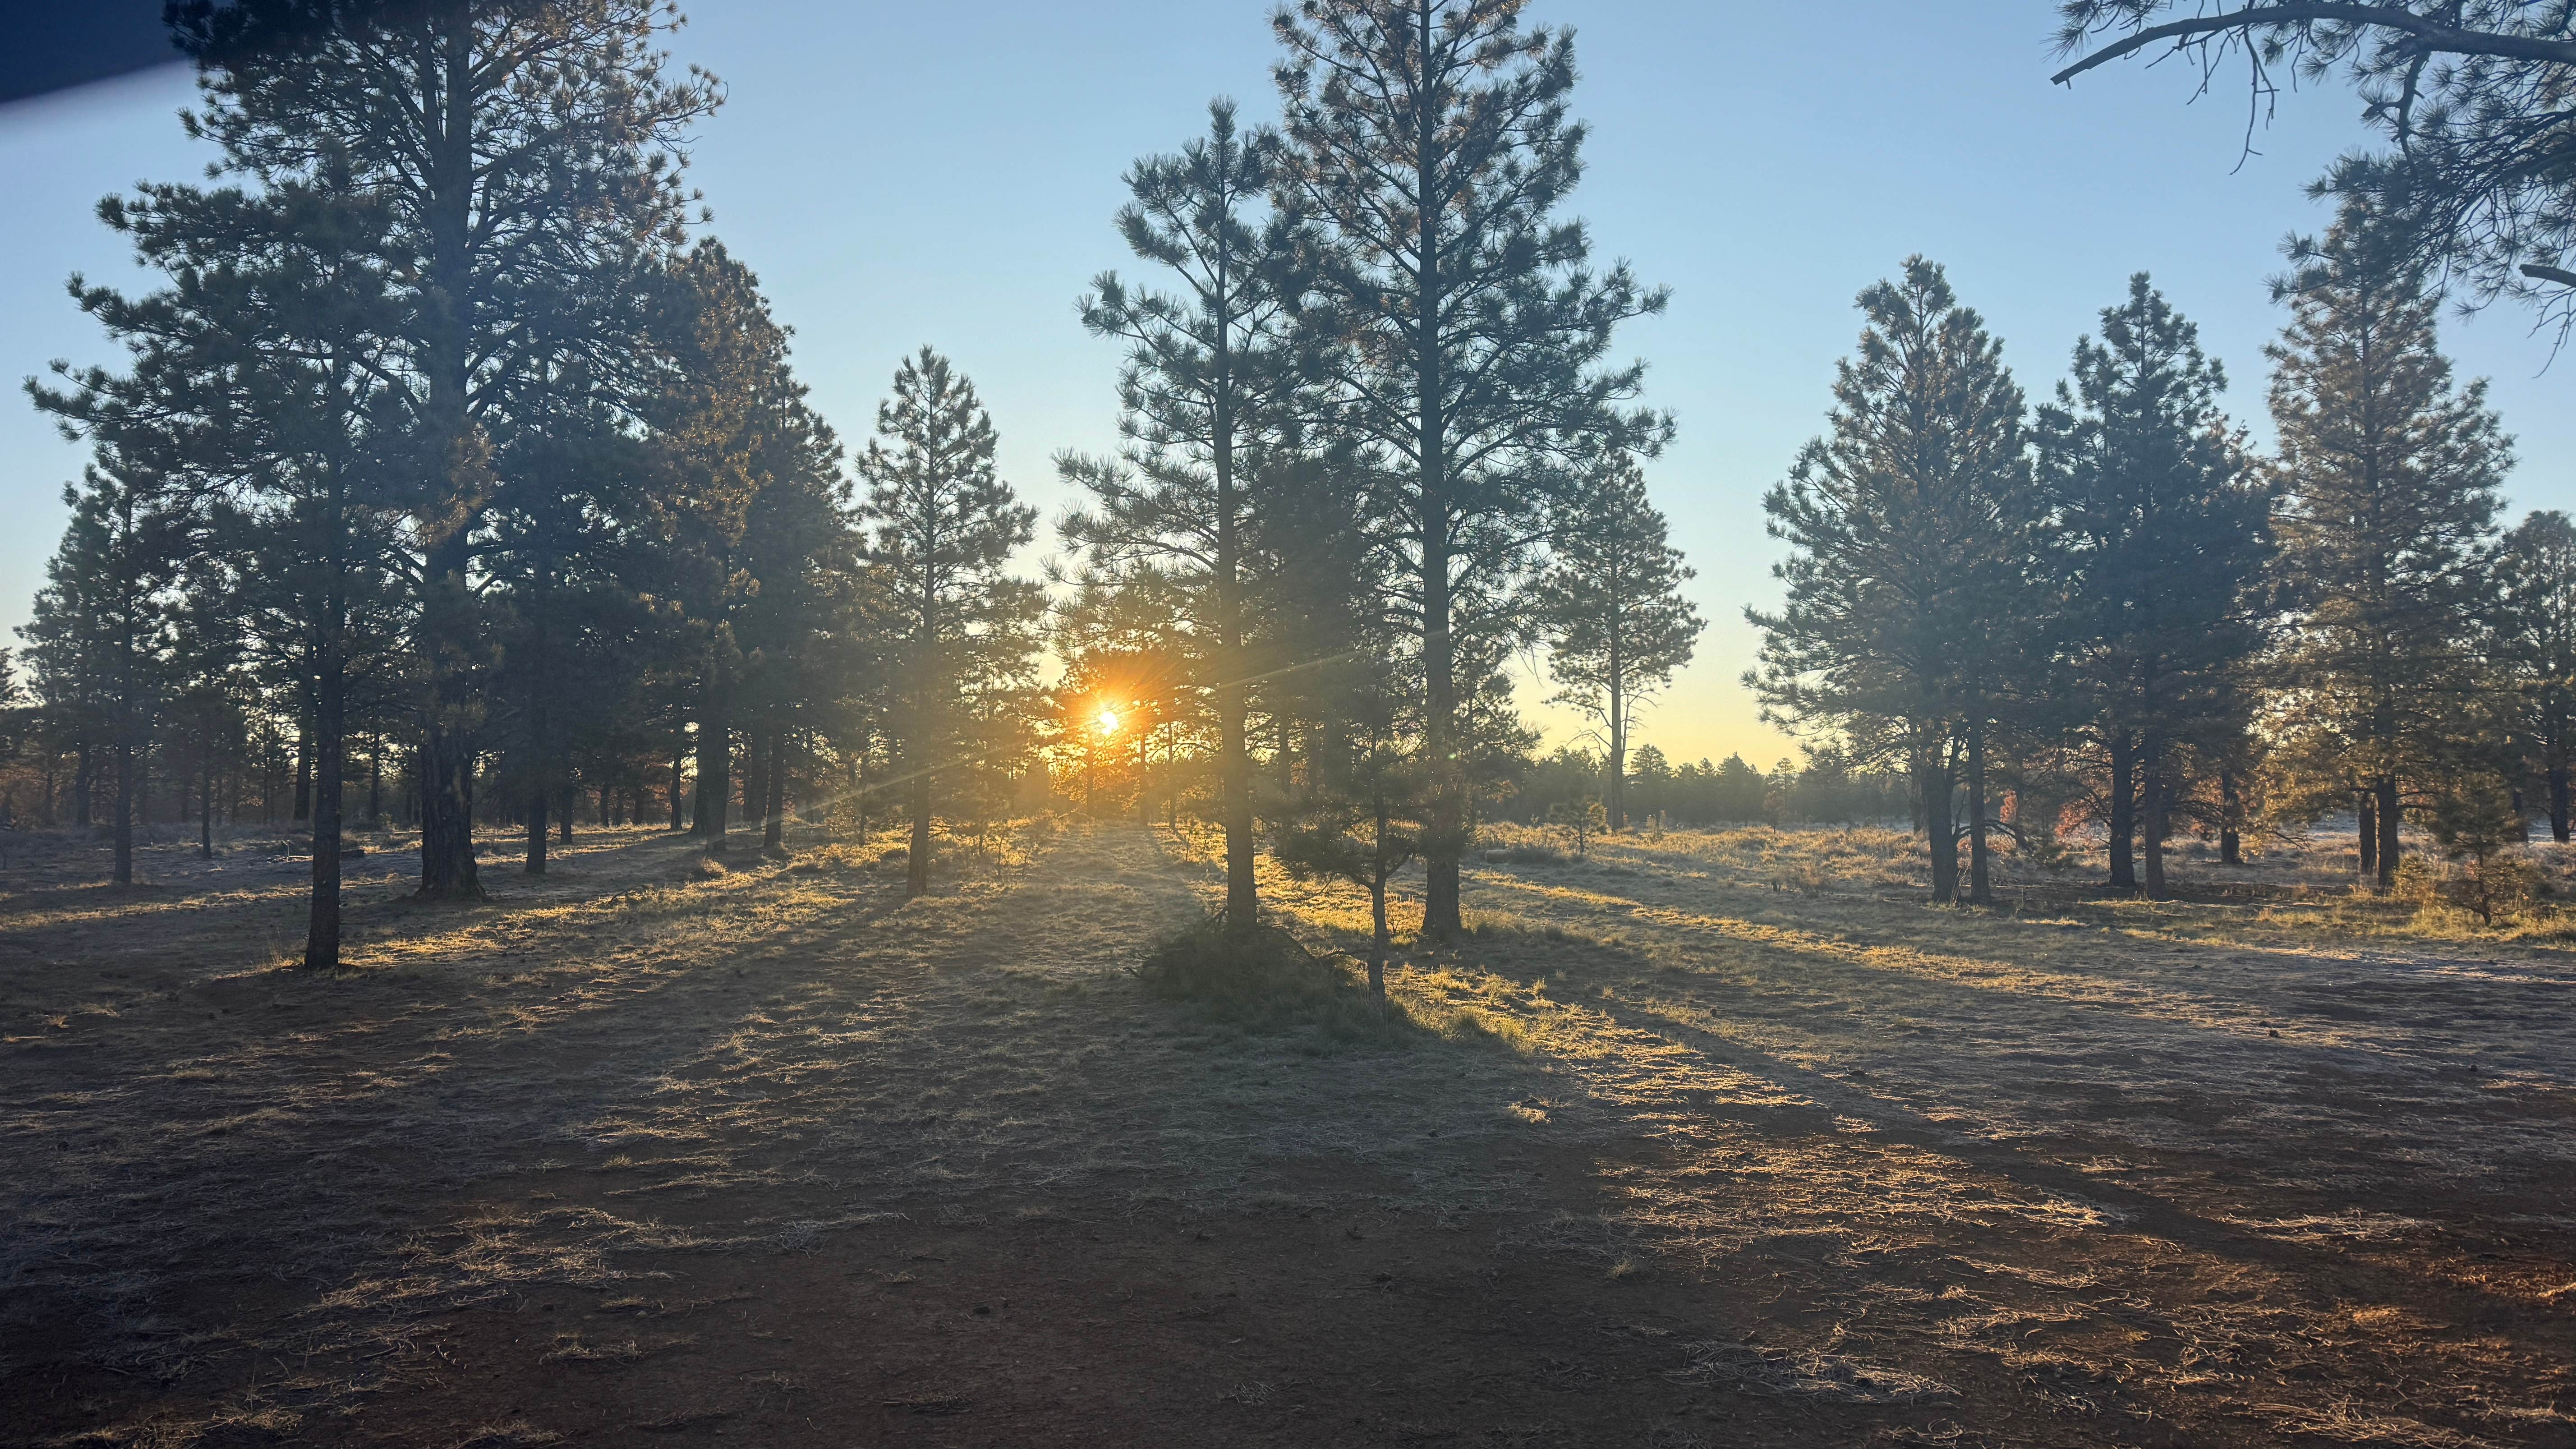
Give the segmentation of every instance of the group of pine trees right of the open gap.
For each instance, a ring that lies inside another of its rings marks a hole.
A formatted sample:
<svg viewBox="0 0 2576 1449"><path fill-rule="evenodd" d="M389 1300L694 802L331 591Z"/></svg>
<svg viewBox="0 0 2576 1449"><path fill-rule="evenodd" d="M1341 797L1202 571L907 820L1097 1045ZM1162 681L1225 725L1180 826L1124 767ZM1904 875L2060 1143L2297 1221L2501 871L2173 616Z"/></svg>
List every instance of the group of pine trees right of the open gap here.
<svg viewBox="0 0 2576 1449"><path fill-rule="evenodd" d="M1765 500L1788 598L1747 683L1911 776L1940 900L1989 897L1991 833L2071 825L2156 897L2182 830L2233 864L2349 810L2380 890L2409 820L2481 861L2537 815L2568 841L2576 531L2499 531L2509 438L2419 255L2360 201L2293 248L2269 456L2146 276L2038 407L1942 268L1862 291L1832 428Z"/></svg>

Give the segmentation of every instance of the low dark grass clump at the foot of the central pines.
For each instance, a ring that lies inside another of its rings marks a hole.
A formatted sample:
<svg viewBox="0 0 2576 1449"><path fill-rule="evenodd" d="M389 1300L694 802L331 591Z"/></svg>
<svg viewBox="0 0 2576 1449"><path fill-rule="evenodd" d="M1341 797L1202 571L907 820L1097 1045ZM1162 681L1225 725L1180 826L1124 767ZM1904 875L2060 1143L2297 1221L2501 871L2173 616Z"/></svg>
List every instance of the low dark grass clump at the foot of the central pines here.
<svg viewBox="0 0 2576 1449"><path fill-rule="evenodd" d="M1257 1034L1314 1031L1334 1042L1409 1042L1401 1008L1278 926L1236 928L1224 913L1172 931L1136 964L1144 987L1200 1016Z"/></svg>

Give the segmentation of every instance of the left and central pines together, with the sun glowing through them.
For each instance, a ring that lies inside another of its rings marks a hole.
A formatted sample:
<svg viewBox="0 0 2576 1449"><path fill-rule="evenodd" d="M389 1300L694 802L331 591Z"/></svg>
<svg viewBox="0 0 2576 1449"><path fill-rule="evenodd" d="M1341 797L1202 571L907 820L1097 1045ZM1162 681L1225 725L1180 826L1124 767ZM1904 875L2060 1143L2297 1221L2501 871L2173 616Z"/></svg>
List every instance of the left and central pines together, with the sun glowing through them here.
<svg viewBox="0 0 2576 1449"><path fill-rule="evenodd" d="M1301 0L1283 124L1139 160L1079 322L1123 351L1066 562L922 348L845 451L685 144L721 101L659 0L175 5L219 165L100 217L155 289L75 278L126 348L31 384L88 441L26 629L44 807L149 792L211 851L281 794L312 828L307 964L340 957L345 815L546 869L577 815L708 851L791 810L933 822L1036 761L1211 781L1229 918L1255 851L1458 928L1479 799L1525 763L1507 663L1546 645L1613 758L1690 657L1687 570L1615 330L1664 307L1566 214L1571 36L1522 3ZM1051 683L1041 683L1059 673ZM1159 773L1157 773L1159 771ZM1613 766L1613 781L1625 779ZM361 804L363 802L363 804ZM1623 810L1613 789L1613 812Z"/></svg>

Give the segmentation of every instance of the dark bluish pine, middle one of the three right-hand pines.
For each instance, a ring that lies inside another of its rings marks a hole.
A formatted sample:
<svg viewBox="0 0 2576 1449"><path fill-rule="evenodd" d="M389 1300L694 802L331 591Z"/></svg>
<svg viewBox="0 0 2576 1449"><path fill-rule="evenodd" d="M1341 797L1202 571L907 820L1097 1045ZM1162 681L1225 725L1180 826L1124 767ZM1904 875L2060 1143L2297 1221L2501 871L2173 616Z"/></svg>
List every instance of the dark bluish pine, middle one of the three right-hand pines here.
<svg viewBox="0 0 2576 1449"><path fill-rule="evenodd" d="M2177 771L2246 730L2233 681L2264 645L2272 490L2218 410L2223 389L2200 330L2141 271L2038 418L2063 650L2110 766L2110 884L2138 884L2143 828L2156 900Z"/></svg>

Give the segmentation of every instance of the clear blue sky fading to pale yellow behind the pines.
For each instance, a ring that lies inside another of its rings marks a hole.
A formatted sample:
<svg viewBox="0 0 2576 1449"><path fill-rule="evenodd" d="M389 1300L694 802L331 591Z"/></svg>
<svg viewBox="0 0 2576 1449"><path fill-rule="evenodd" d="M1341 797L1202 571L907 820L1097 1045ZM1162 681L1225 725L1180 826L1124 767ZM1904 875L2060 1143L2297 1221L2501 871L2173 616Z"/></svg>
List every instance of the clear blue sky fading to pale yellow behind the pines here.
<svg viewBox="0 0 2576 1449"><path fill-rule="evenodd" d="M1741 611L1775 593L1762 490L1821 425L1857 333L1852 294L1906 253L1950 266L2035 397L2128 273L2154 271L2226 361L2231 407L2264 431L2280 312L2262 278L2285 232L2324 222L2300 188L2362 142L2357 103L2285 95L2239 165L2239 90L2190 103L2174 67L2050 88L2050 10L1533 5L1579 36L1592 144L1577 211L1605 255L1674 289L1669 315L1623 338L1682 420L1651 482L1710 619L1643 724L1667 753L1788 753L1736 686L1754 647ZM796 327L824 413L858 438L896 358L933 343L984 389L1005 474L1048 513L1064 503L1051 454L1113 441L1115 356L1072 304L1103 266L1133 271L1108 224L1121 168L1188 139L1211 95L1252 116L1275 106L1260 0L698 0L670 46L732 90L696 178ZM204 165L173 119L188 98L162 75L0 111L0 374L108 356L62 281L131 276L93 204ZM2543 371L2548 340L2512 307L2452 322L2447 345L2463 374L2494 379L2519 436L2514 508L2576 508L2576 361ZM23 400L0 400L0 627L26 619L77 467Z"/></svg>

